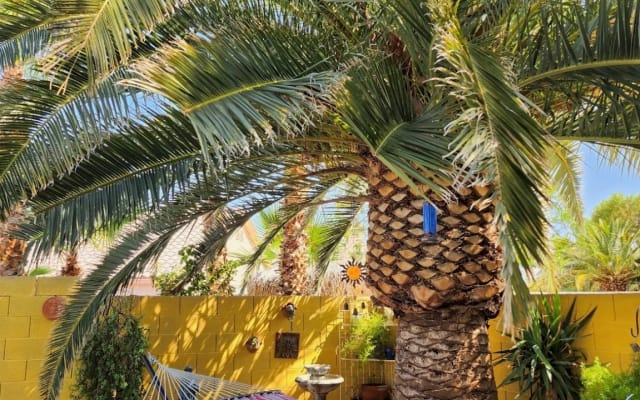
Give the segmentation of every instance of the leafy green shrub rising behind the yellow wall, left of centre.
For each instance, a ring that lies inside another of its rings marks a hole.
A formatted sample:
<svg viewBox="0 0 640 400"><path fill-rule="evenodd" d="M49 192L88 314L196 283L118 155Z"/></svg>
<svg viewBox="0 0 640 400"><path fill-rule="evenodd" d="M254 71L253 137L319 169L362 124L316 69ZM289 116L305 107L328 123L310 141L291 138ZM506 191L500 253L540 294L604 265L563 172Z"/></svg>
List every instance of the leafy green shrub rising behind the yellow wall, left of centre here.
<svg viewBox="0 0 640 400"><path fill-rule="evenodd" d="M228 296L233 294L233 272L239 261L212 263L205 269L198 268L195 247L182 248L180 267L166 274L157 275L154 285L162 296Z"/></svg>

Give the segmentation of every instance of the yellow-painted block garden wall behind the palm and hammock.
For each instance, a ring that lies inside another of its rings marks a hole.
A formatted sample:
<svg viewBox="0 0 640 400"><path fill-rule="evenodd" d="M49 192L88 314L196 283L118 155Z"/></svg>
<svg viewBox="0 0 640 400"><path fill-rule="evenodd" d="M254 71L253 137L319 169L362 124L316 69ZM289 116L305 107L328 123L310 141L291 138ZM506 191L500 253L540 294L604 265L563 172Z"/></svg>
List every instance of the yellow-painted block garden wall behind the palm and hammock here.
<svg viewBox="0 0 640 400"><path fill-rule="evenodd" d="M37 399L37 380L46 354L53 324L41 312L53 295L68 294L73 278L0 278L0 400ZM575 295L563 295L569 304ZM293 302L298 310L293 331L300 333L300 356L296 360L274 358L276 332L290 330L281 308ZM359 363L341 361L338 355L340 321L344 298L327 297L141 297L134 310L149 329L150 351L162 362L182 368L191 365L197 373L278 388L294 397L309 399L295 385L294 377L303 365L327 363L332 372L345 376L341 396L349 399L360 382L371 379L391 382L393 362ZM615 370L625 369L631 360L631 328L635 329L638 293L580 294L578 315L591 307L598 311L586 329L590 334L579 346L592 361L598 356ZM252 335L263 341L256 353L244 348ZM490 326L492 350L511 346L500 336L498 321ZM505 367L496 368L496 377ZM68 390L62 399L68 399ZM502 390L500 399L513 398Z"/></svg>

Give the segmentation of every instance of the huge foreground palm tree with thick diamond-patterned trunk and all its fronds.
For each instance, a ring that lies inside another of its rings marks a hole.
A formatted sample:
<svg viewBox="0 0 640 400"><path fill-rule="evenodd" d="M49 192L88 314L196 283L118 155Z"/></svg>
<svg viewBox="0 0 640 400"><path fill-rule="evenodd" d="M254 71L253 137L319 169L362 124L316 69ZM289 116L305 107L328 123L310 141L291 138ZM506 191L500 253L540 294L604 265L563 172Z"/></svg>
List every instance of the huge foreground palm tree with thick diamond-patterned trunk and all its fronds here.
<svg viewBox="0 0 640 400"><path fill-rule="evenodd" d="M172 235L211 217L203 266L287 196L257 255L322 207L328 263L368 207L368 284L400 316L396 399L496 398L487 321L503 302L507 324L526 308L542 193L571 183L547 172L554 138L638 160L638 7L0 0L0 64L32 71L0 91L0 141L14 149L1 153L2 211L27 201L22 233L39 252L139 221L80 282L43 398Z"/></svg>

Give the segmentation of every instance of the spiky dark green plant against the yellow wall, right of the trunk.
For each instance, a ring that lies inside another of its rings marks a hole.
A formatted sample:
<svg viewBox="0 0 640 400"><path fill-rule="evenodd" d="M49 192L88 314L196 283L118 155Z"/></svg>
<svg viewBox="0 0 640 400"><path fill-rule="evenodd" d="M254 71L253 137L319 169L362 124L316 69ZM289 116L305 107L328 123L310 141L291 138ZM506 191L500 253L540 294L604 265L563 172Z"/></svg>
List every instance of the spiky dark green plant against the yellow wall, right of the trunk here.
<svg viewBox="0 0 640 400"><path fill-rule="evenodd" d="M558 295L552 301L540 296L531 307L530 325L520 330L513 347L499 352L497 363L511 366L500 386L517 383L519 394L528 393L531 400L577 400L582 388L578 367L584 355L573 345L595 311L576 319L575 299L563 315Z"/></svg>

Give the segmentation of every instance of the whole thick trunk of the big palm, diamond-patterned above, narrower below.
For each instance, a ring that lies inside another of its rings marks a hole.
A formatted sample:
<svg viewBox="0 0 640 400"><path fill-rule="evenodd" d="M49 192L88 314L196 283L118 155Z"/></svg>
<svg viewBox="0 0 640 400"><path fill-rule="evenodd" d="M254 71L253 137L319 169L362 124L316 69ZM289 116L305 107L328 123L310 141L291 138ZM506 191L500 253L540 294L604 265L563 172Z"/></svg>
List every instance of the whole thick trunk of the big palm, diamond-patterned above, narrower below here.
<svg viewBox="0 0 640 400"><path fill-rule="evenodd" d="M457 189L446 203L373 157L368 181L367 284L401 316L395 400L497 398L486 326L503 284L490 190ZM434 242L424 240L423 194L439 210Z"/></svg>

